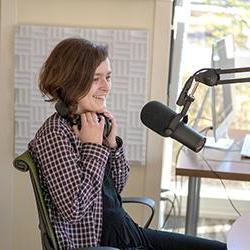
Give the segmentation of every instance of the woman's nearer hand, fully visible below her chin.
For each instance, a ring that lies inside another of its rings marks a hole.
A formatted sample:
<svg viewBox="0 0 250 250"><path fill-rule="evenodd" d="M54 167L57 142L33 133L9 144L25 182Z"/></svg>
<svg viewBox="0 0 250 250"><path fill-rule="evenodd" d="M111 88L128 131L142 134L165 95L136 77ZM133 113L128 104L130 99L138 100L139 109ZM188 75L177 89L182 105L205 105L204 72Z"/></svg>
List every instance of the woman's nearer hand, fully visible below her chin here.
<svg viewBox="0 0 250 250"><path fill-rule="evenodd" d="M77 125L74 125L73 131L82 143L90 142L102 145L104 124L104 117L101 116L98 121L95 112L86 112L81 114L81 129L79 130Z"/></svg>

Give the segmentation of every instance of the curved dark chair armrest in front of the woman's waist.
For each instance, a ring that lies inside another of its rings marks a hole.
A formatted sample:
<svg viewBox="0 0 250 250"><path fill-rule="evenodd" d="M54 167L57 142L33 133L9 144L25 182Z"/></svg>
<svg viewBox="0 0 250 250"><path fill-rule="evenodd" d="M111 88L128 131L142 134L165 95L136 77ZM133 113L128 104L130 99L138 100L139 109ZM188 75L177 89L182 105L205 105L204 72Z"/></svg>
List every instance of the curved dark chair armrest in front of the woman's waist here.
<svg viewBox="0 0 250 250"><path fill-rule="evenodd" d="M146 221L144 228L149 227L154 217L154 213L155 213L155 201L153 199L148 198L148 197L122 197L122 202L123 203L138 203L138 204L142 204L142 205L149 207L151 210L151 214L148 220Z"/></svg>

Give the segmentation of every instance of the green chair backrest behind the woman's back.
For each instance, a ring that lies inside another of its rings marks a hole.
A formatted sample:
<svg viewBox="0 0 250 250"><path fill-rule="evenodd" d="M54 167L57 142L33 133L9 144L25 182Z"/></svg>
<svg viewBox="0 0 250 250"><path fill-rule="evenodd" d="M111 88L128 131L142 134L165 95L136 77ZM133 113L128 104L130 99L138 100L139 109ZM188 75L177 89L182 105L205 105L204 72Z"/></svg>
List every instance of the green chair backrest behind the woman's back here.
<svg viewBox="0 0 250 250"><path fill-rule="evenodd" d="M38 176L38 166L34 163L30 152L27 150L13 161L16 169L30 173L30 179L36 199L39 216L39 228L41 232L42 246L44 250L58 250L58 244L52 225L50 223L47 208L45 206L42 188Z"/></svg>

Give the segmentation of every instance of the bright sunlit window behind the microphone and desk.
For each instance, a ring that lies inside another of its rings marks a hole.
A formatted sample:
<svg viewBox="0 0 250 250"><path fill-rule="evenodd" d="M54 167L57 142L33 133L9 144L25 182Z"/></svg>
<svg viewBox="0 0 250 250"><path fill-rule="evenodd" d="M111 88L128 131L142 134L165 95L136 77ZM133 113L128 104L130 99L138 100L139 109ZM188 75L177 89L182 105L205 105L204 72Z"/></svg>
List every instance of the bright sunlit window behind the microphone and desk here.
<svg viewBox="0 0 250 250"><path fill-rule="evenodd" d="M194 72L202 68L213 67L213 61L217 61L218 63L218 55L213 55L212 53L214 46L219 41L230 37L230 44L232 45L230 48L226 46L223 48L225 55L224 61L220 62L220 68L250 67L249 0L175 1L173 27L174 46L172 47L172 75L170 80L172 90L170 86L169 91L170 99L175 95L175 100L170 100L172 107L183 84ZM178 72L179 74L176 76ZM249 77L249 75L247 74L246 77ZM179 90L173 90L173 85L178 85ZM232 89L232 102L235 110L228 129L250 130L250 83L232 84L230 87ZM195 101L188 111L190 126L194 125L197 130L208 134L213 133L211 129L209 130L212 126L212 98L210 92L211 90L209 90L208 86L199 84L195 93ZM181 215L179 217L185 215L187 178L175 176L176 159L178 159L181 148L179 143L174 142L172 166L173 187L171 189L176 190L175 197L177 196L178 199L173 198L174 205L173 203L169 205L170 209L168 212L166 212L167 208L165 208L165 218L171 214L177 215L179 213ZM228 227L225 229L213 229L215 235L210 235L209 232L206 235L204 233L206 230L203 228L204 231L200 228L198 229L198 234L225 241L227 230L230 228L229 225L237 217L237 213L228 202L228 197L235 202L239 210L244 211L247 207L249 208L250 183L228 180L223 180L223 183L225 184L225 188L218 179L202 179L199 218L200 220L203 218L205 220L207 217L215 219L213 218L215 215L212 215L211 211L209 211L210 207L213 206L213 210L216 211L215 217L226 217L222 224L227 224ZM209 204L212 205L209 206ZM183 223L178 219L174 220L173 224L168 222L169 225L172 225L172 228L169 226L169 230L183 230ZM205 222L208 231L211 229L209 229L211 224L211 220L207 223ZM224 230L225 234L216 235L216 230L220 232Z"/></svg>

